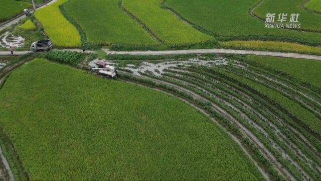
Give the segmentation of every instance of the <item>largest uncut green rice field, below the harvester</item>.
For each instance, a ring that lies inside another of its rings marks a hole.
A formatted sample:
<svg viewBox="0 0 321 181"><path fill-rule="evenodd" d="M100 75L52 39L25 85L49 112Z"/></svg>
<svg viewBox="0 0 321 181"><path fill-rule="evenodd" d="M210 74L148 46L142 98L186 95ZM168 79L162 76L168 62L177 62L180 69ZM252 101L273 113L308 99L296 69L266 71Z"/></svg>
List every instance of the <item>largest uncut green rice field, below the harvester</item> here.
<svg viewBox="0 0 321 181"><path fill-rule="evenodd" d="M0 124L31 180L264 179L182 101L41 59L0 90Z"/></svg>

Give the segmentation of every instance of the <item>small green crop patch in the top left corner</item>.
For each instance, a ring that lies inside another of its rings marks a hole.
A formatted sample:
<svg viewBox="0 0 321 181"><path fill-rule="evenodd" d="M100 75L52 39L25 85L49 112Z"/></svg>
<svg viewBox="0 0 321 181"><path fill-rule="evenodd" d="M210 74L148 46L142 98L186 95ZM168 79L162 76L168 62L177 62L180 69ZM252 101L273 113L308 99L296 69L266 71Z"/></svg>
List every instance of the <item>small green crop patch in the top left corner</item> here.
<svg viewBox="0 0 321 181"><path fill-rule="evenodd" d="M32 7L30 3L16 0L0 0L0 5L0 22L14 18L23 13L24 9Z"/></svg>

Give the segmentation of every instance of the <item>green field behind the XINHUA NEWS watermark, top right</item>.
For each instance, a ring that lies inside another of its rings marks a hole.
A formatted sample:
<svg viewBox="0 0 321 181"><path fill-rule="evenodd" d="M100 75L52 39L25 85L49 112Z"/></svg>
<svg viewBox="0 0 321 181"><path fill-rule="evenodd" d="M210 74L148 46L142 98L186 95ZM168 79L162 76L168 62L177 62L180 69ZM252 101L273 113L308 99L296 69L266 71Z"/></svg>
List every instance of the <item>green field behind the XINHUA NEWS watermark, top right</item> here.
<svg viewBox="0 0 321 181"><path fill-rule="evenodd" d="M278 14L287 13L287 22L289 21L291 13L300 14L298 21L301 23L300 30L321 32L321 15L306 11L301 8L302 0L264 0L260 6L258 6L254 14L260 19L265 20L267 13L275 13L275 21L277 22ZM319 2L321 7L321 1Z"/></svg>

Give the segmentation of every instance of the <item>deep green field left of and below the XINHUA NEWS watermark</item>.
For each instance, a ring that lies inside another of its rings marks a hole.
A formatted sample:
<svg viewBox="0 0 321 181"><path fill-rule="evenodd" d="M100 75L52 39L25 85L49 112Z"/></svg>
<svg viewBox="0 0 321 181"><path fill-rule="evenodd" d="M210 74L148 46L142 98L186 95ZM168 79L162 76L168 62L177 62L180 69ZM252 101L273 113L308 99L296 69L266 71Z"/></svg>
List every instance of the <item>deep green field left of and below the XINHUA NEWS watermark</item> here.
<svg viewBox="0 0 321 181"><path fill-rule="evenodd" d="M190 22L222 38L282 40L320 45L320 33L264 28L264 23L249 13L251 7L257 3L258 0L167 0L165 5Z"/></svg>

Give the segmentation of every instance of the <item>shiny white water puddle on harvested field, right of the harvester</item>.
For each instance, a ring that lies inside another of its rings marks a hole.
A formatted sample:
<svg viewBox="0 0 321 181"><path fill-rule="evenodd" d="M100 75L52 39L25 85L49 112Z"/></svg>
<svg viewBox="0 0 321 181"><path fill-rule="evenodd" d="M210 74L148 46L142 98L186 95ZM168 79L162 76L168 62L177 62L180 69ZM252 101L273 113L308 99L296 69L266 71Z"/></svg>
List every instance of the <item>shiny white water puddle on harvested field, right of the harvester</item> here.
<svg viewBox="0 0 321 181"><path fill-rule="evenodd" d="M217 66L217 65L226 65L228 61L224 58L217 58L214 60L202 60L202 59L189 59L187 61L170 61L170 62L162 62L162 63L148 63L143 62L141 65L132 65L128 64L123 69L131 71L134 75L140 75L139 72L143 73L152 73L156 76L161 76L164 73L164 70L169 69L171 67L179 67L179 66L191 66L191 65L203 65L203 66Z"/></svg>

